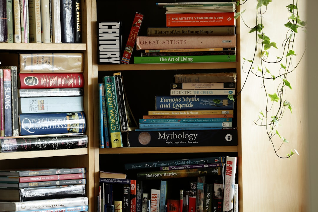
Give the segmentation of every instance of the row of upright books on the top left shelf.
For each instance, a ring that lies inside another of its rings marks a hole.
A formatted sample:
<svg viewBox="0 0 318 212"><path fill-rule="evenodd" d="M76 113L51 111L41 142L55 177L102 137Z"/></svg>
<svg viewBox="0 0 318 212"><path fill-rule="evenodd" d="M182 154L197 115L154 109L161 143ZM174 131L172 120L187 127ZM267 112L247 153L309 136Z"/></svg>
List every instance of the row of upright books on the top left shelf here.
<svg viewBox="0 0 318 212"><path fill-rule="evenodd" d="M1 0L0 5L0 42L82 42L80 0Z"/></svg>

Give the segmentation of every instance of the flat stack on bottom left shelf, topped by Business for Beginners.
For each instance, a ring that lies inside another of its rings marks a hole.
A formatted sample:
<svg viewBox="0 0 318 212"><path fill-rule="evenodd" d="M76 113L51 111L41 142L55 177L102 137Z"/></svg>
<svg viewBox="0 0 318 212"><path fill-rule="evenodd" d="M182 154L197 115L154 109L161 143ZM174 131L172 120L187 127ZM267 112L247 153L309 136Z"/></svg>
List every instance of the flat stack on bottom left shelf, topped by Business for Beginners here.
<svg viewBox="0 0 318 212"><path fill-rule="evenodd" d="M86 168L0 170L0 209L87 211Z"/></svg>

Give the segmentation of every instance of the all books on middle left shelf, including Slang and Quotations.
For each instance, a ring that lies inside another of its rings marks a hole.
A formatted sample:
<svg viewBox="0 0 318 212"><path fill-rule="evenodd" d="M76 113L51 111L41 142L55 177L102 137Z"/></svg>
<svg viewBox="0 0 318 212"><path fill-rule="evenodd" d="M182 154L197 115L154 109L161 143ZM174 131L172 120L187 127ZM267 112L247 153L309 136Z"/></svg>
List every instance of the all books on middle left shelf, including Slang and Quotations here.
<svg viewBox="0 0 318 212"><path fill-rule="evenodd" d="M19 57L19 72L0 67L1 152L87 147L83 54Z"/></svg>

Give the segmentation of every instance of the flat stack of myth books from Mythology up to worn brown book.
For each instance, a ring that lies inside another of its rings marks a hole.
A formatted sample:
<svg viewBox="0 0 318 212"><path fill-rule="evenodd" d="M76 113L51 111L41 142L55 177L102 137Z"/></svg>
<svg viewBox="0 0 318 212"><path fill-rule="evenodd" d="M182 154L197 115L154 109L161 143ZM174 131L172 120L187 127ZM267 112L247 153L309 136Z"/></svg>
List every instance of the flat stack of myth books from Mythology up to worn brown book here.
<svg viewBox="0 0 318 212"><path fill-rule="evenodd" d="M170 95L157 95L155 111L128 132L128 146L237 145L235 82L235 72L176 74Z"/></svg>

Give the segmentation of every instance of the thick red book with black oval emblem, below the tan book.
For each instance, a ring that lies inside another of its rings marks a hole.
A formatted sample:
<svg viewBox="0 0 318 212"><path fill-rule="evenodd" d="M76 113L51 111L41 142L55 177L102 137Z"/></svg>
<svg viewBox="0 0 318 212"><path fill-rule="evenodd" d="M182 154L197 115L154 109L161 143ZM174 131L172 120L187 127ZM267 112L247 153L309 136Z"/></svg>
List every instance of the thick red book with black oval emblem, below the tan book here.
<svg viewBox="0 0 318 212"><path fill-rule="evenodd" d="M83 73L19 73L20 89L82 88Z"/></svg>

